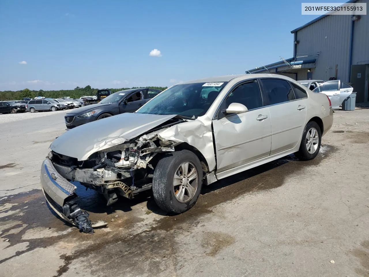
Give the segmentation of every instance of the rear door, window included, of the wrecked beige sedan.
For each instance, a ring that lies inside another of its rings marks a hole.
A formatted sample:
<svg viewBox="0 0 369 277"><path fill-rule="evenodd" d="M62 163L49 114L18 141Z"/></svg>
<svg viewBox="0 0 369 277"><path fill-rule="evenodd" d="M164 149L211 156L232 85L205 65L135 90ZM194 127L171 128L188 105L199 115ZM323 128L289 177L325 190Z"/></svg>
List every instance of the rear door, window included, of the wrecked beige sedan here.
<svg viewBox="0 0 369 277"><path fill-rule="evenodd" d="M299 143L305 127L307 93L283 79L263 78L260 83L272 122L270 155L292 149Z"/></svg>

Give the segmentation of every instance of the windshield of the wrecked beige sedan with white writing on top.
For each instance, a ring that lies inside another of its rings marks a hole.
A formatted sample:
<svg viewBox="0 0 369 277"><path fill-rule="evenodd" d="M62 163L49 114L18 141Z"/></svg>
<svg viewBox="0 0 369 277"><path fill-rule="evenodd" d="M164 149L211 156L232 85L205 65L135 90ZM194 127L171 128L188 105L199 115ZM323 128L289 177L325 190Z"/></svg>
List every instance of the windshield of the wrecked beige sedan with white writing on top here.
<svg viewBox="0 0 369 277"><path fill-rule="evenodd" d="M175 85L152 98L137 113L203 116L227 83Z"/></svg>

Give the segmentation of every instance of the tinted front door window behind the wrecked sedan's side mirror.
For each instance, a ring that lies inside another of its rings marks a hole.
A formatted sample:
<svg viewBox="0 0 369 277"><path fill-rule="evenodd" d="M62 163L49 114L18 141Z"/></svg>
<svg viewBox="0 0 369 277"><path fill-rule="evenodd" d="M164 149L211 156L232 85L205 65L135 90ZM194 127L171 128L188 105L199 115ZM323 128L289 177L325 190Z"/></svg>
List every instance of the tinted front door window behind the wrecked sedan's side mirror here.
<svg viewBox="0 0 369 277"><path fill-rule="evenodd" d="M258 82L244 83L235 88L225 100L224 108L227 108L231 103L240 103L249 110L262 107L263 101Z"/></svg>

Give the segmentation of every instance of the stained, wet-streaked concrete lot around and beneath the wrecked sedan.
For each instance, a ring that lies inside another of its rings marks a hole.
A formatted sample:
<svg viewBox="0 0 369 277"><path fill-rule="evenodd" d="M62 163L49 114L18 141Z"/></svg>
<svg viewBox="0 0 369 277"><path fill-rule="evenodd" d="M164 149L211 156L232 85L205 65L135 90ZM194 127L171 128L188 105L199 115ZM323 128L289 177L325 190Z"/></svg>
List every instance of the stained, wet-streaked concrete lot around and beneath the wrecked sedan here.
<svg viewBox="0 0 369 277"><path fill-rule="evenodd" d="M369 276L369 109L335 112L315 160L223 179L182 215L149 192L107 208L79 187L81 208L108 222L93 235L56 218L39 189L65 129L45 114L0 124L0 276Z"/></svg>

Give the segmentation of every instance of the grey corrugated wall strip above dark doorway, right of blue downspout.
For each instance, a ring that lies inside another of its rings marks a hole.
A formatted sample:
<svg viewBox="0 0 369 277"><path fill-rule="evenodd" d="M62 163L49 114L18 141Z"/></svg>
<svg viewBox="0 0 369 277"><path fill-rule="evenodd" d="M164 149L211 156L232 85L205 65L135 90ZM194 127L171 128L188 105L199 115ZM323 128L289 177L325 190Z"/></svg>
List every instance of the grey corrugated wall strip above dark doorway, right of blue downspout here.
<svg viewBox="0 0 369 277"><path fill-rule="evenodd" d="M356 1L356 3L367 3L367 13L369 12L368 0ZM354 23L354 47L352 52L352 64L369 64L369 17L361 16Z"/></svg>

